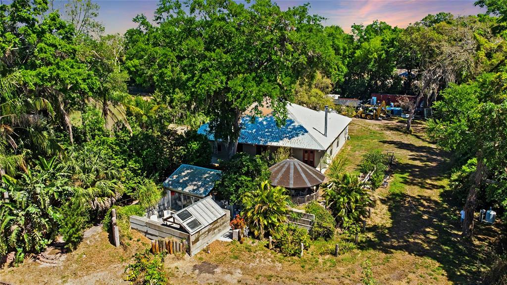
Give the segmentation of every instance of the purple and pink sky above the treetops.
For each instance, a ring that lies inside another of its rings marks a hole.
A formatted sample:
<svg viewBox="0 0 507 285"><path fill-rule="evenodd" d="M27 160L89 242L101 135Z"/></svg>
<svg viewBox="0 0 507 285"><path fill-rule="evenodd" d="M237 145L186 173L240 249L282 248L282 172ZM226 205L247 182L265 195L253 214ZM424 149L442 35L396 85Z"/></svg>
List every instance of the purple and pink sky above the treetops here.
<svg viewBox="0 0 507 285"><path fill-rule="evenodd" d="M428 14L450 12L456 16L476 15L484 12L474 6L474 0L274 0L282 9L310 3L310 14L327 18L324 25L339 25L346 32L356 24L370 24L374 20L391 26L406 27ZM156 0L95 0L100 5L98 20L106 33L124 33L136 27L132 22L138 14L153 18Z"/></svg>

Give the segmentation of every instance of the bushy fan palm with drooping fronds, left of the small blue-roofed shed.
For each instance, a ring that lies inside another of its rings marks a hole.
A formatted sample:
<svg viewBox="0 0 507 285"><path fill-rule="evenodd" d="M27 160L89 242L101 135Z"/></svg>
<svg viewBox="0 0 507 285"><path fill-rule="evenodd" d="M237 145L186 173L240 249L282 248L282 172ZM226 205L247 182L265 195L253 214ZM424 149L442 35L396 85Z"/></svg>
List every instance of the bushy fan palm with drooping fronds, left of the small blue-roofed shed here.
<svg viewBox="0 0 507 285"><path fill-rule="evenodd" d="M85 146L70 152L67 170L72 175L76 196L93 209L111 207L123 194L119 171L102 154Z"/></svg>

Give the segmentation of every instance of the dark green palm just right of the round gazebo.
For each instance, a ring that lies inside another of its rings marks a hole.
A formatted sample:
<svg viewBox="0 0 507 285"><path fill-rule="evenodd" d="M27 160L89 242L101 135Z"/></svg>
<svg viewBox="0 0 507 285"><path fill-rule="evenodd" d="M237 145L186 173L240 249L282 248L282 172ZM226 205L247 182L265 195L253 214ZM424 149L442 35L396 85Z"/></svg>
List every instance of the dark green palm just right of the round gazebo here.
<svg viewBox="0 0 507 285"><path fill-rule="evenodd" d="M333 187L323 195L326 208L331 209L338 224L349 221L358 223L372 204L372 193L363 187L357 175L344 173L333 182Z"/></svg>

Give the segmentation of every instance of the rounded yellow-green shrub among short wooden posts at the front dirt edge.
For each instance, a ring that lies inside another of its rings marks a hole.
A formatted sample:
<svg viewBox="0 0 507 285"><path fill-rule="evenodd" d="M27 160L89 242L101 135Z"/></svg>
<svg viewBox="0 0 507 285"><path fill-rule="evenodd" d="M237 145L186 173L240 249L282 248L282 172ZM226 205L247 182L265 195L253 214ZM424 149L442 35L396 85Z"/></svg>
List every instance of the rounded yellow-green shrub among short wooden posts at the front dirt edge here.
<svg viewBox="0 0 507 285"><path fill-rule="evenodd" d="M293 224L283 224L273 235L274 245L285 256L297 256L301 253L301 243L306 249L310 246L310 236L305 229Z"/></svg>

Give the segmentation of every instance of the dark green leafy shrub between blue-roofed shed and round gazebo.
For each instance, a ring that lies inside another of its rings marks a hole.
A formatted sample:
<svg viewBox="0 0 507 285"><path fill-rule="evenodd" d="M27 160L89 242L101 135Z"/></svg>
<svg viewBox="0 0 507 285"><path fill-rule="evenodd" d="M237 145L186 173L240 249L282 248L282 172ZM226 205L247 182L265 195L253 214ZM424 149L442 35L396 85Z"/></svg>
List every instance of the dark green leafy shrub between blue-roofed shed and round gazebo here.
<svg viewBox="0 0 507 285"><path fill-rule="evenodd" d="M237 153L224 163L222 179L214 189L222 199L241 204L243 195L269 179L269 168L261 156Z"/></svg>

